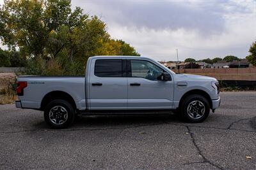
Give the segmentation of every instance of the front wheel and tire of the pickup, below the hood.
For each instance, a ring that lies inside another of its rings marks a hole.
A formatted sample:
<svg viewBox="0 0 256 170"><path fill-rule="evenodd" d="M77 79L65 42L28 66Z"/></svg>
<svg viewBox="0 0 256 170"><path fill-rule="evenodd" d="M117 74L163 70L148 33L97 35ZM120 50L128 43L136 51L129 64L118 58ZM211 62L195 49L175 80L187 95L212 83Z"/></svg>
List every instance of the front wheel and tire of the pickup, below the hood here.
<svg viewBox="0 0 256 170"><path fill-rule="evenodd" d="M181 104L180 116L186 122L200 123L208 117L210 113L210 104L204 96L193 94Z"/></svg>

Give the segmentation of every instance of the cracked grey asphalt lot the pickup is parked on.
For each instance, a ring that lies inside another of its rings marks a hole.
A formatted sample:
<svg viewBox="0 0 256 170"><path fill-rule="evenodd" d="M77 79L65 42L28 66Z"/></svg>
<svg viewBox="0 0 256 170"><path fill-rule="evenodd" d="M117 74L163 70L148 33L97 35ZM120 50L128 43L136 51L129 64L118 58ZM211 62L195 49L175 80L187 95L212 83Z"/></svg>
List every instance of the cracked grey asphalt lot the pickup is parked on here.
<svg viewBox="0 0 256 170"><path fill-rule="evenodd" d="M201 124L175 115L79 117L0 105L0 169L256 169L256 92L223 92Z"/></svg>

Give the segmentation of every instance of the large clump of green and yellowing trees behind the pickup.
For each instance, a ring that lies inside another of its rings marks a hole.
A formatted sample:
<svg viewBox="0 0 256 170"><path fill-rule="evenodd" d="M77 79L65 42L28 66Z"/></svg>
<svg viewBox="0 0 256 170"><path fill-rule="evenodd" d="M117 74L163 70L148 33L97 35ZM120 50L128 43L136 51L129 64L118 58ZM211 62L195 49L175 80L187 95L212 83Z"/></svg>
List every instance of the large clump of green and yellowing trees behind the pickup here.
<svg viewBox="0 0 256 170"><path fill-rule="evenodd" d="M4 1L0 38L10 50L19 47L27 66L35 69L28 69L31 73L48 74L40 69L56 66L58 73L82 74L93 55L140 55L124 41L111 39L97 16L79 7L72 10L70 0Z"/></svg>

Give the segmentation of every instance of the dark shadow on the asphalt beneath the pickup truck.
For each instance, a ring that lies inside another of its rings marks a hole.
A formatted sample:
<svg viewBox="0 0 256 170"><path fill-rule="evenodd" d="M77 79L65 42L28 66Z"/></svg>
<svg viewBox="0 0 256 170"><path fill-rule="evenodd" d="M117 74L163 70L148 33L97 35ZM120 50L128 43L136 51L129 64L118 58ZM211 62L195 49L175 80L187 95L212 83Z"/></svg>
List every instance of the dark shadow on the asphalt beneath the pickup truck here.
<svg viewBox="0 0 256 170"><path fill-rule="evenodd" d="M230 120L232 117L223 118L223 115L212 114L201 124L219 124L220 120ZM102 116L86 116L78 115L74 123L68 129L109 129L122 127L136 127L157 124L184 124L179 115L102 115ZM228 124L228 123L227 123ZM43 121L38 120L33 124L36 129L49 129L50 127Z"/></svg>

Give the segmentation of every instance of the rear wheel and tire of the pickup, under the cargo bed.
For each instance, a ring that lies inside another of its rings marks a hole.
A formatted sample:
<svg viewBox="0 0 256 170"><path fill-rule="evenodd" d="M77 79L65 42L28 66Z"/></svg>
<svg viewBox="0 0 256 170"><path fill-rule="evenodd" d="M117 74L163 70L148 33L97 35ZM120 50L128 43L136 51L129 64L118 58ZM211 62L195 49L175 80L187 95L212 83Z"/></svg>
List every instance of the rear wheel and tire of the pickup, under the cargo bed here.
<svg viewBox="0 0 256 170"><path fill-rule="evenodd" d="M45 107L44 120L52 129L65 129L74 118L74 108L65 100L56 99Z"/></svg>

